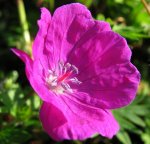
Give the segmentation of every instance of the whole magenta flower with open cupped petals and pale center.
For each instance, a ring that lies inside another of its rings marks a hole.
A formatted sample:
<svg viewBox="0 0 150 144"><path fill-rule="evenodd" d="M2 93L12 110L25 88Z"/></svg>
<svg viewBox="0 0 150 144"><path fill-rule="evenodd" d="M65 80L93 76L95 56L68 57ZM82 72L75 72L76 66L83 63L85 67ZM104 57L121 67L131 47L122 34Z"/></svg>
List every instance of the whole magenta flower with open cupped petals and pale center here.
<svg viewBox="0 0 150 144"><path fill-rule="evenodd" d="M131 103L140 81L126 40L79 3L58 8L52 17L42 8L38 25L33 59L13 52L44 101L43 128L57 141L95 133L112 138L119 125L111 110Z"/></svg>

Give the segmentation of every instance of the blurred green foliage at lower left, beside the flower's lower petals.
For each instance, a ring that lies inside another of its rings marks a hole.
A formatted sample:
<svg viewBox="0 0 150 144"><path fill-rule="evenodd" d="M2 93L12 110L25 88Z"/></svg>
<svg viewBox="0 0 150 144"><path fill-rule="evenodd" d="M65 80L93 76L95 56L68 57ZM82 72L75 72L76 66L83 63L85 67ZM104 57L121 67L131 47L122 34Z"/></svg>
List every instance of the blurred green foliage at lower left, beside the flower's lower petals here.
<svg viewBox="0 0 150 144"><path fill-rule="evenodd" d="M16 71L12 71L6 78L3 78L2 72L0 75L0 143L25 142L31 138L28 127L40 126L37 118L34 118L38 115L40 99L29 87L24 90L21 88L16 82Z"/></svg>

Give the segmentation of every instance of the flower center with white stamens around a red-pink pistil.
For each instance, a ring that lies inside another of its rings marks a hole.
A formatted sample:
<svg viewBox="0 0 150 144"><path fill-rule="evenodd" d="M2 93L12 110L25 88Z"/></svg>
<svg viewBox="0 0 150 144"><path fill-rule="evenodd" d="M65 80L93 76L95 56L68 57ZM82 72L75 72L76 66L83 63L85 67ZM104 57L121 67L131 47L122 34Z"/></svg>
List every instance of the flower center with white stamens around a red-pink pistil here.
<svg viewBox="0 0 150 144"><path fill-rule="evenodd" d="M70 84L81 84L75 77L78 74L78 68L70 63L59 62L55 70L48 70L46 76L46 85L55 93L72 93Z"/></svg>

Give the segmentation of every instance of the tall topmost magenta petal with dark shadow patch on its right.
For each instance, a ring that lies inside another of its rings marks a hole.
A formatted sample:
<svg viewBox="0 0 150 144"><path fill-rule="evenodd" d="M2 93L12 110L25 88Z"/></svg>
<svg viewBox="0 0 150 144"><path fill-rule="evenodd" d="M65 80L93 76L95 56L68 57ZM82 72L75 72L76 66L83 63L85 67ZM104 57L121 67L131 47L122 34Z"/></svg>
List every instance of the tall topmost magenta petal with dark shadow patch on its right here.
<svg viewBox="0 0 150 144"><path fill-rule="evenodd" d="M68 51L93 24L84 5L74 3L56 9L46 39L46 48L53 51L56 64L59 60L65 62Z"/></svg>

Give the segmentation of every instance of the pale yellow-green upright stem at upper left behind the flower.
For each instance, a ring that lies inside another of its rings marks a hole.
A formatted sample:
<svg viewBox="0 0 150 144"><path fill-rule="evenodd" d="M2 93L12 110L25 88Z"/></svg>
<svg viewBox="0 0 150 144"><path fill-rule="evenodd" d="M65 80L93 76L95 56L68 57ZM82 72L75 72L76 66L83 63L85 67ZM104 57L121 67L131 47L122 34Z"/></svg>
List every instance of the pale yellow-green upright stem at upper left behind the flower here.
<svg viewBox="0 0 150 144"><path fill-rule="evenodd" d="M28 21L26 19L26 12L25 12L25 6L23 0L16 0L17 1L17 7L18 7L18 13L19 13L19 20L22 27L23 32L23 38L25 41L25 49L27 51L29 50L29 46L31 45L31 38L29 33L29 26Z"/></svg>

